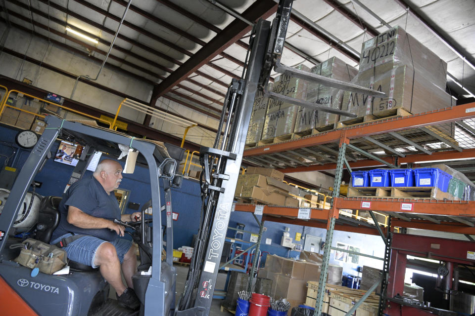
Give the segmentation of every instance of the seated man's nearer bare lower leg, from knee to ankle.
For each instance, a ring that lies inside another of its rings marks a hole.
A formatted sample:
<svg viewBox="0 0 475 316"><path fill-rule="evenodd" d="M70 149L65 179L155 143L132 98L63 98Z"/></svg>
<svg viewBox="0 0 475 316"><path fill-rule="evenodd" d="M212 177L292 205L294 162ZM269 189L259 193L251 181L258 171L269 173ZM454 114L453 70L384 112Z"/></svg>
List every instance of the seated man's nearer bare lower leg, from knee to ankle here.
<svg viewBox="0 0 475 316"><path fill-rule="evenodd" d="M120 275L120 261L115 247L110 242L102 243L95 252L94 264L99 266L100 274L115 289L117 295L122 295L126 286Z"/></svg>

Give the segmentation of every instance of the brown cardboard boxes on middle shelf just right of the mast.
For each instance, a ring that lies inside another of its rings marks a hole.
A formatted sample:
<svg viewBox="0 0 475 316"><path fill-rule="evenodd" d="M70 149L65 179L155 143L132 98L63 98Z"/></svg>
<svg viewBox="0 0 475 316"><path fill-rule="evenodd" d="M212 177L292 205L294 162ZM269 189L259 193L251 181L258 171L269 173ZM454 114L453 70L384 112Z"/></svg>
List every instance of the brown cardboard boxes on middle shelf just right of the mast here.
<svg viewBox="0 0 475 316"><path fill-rule="evenodd" d="M248 167L246 173L238 177L235 197L253 199L266 204L298 207L298 199L290 195L298 195L299 190L282 180L284 173L278 170Z"/></svg>

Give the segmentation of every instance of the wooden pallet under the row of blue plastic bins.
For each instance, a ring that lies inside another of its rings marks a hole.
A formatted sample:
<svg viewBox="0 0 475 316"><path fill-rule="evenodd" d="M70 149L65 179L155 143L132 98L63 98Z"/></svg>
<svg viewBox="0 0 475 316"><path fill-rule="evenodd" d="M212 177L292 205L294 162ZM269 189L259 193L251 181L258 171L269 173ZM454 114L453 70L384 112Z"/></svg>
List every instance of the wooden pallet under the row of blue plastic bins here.
<svg viewBox="0 0 475 316"><path fill-rule="evenodd" d="M435 187L356 187L348 188L347 197L413 197L452 200L454 197Z"/></svg>

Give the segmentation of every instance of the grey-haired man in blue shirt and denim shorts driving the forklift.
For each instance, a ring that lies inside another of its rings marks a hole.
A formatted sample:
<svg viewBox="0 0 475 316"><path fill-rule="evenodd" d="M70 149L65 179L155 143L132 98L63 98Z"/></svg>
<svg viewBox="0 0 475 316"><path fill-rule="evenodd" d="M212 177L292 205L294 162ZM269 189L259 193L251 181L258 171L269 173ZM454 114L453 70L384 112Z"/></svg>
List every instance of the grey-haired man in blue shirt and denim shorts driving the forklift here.
<svg viewBox="0 0 475 316"><path fill-rule="evenodd" d="M114 218L130 222L140 220L141 213L120 215L114 190L122 179L122 166L117 161L104 159L91 178L84 178L63 194L58 210L61 214L51 243L63 241L68 258L84 265L99 267L100 274L114 287L117 301L122 306L137 309L140 301L133 290L132 276L137 269L137 258L132 242L124 236L124 227ZM88 235L67 238L73 235ZM63 239L66 238L66 239ZM69 241L67 241L69 240ZM65 241L65 242L64 242ZM122 273L127 286L122 282Z"/></svg>

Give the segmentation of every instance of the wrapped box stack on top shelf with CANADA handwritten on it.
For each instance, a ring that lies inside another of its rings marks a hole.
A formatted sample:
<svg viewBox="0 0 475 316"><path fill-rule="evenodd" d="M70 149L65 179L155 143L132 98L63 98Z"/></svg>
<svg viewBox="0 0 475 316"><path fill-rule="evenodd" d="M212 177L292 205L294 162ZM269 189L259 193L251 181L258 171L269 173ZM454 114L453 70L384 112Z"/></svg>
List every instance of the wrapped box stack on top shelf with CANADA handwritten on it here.
<svg viewBox="0 0 475 316"><path fill-rule="evenodd" d="M310 71L304 65L300 65L296 69ZM307 97L307 87L307 81L284 74L275 79L272 91L295 99L305 100ZM273 99L269 100L261 139L272 139L293 133L298 108L298 106L290 103Z"/></svg>

